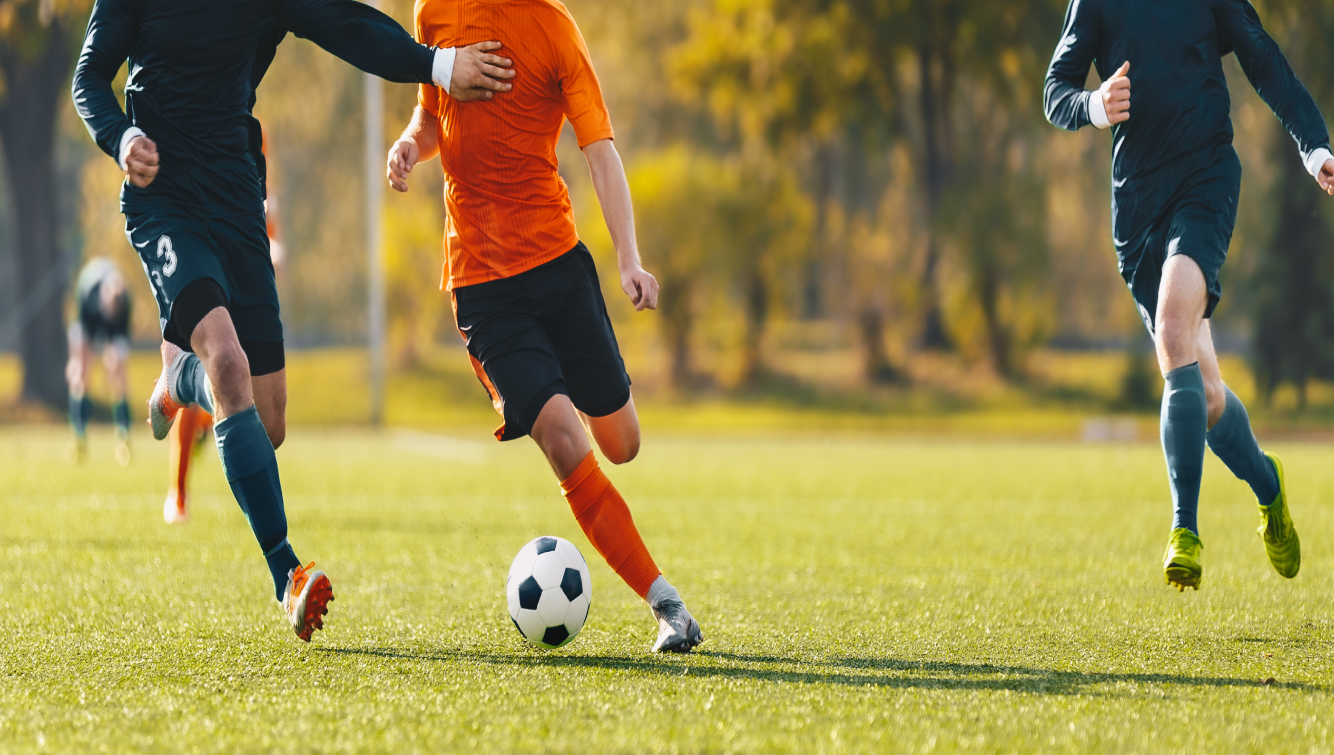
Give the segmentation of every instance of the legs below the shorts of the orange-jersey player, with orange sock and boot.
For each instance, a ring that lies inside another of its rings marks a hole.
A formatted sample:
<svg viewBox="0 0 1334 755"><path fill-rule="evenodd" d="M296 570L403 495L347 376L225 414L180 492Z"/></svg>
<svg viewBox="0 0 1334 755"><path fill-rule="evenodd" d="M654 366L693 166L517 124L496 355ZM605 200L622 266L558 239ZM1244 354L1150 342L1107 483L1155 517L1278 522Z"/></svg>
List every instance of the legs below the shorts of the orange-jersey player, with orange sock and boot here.
<svg viewBox="0 0 1334 755"><path fill-rule="evenodd" d="M590 430L599 428L599 435L595 435L599 447L610 447L616 459L628 462L639 451L639 422L634 404L627 403L608 416L615 419L600 418L604 422L599 422L599 418L590 418ZM552 396L532 426L532 439L560 478L560 487L588 542L648 603L658 622L654 652L690 652L704 639L699 623L690 615L676 588L658 570L624 499L598 468L579 419L568 396Z"/></svg>

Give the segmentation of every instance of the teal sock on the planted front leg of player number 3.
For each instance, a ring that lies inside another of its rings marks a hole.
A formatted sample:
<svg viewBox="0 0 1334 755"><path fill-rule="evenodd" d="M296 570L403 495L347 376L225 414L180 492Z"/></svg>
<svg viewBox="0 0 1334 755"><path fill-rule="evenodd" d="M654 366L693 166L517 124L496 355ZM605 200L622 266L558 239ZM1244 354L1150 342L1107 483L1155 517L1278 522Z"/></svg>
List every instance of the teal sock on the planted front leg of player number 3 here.
<svg viewBox="0 0 1334 755"><path fill-rule="evenodd" d="M283 486L277 479L273 444L269 443L253 406L215 424L213 439L217 442L217 456L223 462L227 484L232 487L232 495L245 512L264 560L268 562L273 595L283 600L287 572L301 562L287 542Z"/></svg>

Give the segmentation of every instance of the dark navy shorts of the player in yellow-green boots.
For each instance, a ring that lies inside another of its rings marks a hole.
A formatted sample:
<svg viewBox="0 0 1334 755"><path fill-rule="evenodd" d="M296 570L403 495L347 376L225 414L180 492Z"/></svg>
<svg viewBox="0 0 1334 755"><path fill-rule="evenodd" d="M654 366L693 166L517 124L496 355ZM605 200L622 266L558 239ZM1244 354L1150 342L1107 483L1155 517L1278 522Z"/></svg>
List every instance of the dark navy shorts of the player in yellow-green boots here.
<svg viewBox="0 0 1334 755"><path fill-rule="evenodd" d="M1209 287L1205 319L1213 316L1223 295L1218 272L1233 241L1241 185L1241 161L1237 152L1226 149L1217 161L1193 175L1177 192L1139 244L1122 249L1121 276L1130 287L1150 335L1154 332L1154 317L1158 316L1158 288L1162 284L1163 265L1174 255L1195 260L1205 273L1205 284Z"/></svg>

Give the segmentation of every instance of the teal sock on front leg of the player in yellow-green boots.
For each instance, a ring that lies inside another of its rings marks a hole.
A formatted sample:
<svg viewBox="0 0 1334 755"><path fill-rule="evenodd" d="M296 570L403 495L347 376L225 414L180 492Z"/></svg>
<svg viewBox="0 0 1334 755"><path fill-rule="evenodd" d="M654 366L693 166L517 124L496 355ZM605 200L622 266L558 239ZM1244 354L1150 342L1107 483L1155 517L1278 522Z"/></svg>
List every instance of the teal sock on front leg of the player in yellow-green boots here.
<svg viewBox="0 0 1334 755"><path fill-rule="evenodd" d="M1163 456L1171 486L1173 530L1185 527L1199 535L1199 480L1205 474L1205 434L1209 408L1199 363L1178 367L1166 375L1162 408Z"/></svg>

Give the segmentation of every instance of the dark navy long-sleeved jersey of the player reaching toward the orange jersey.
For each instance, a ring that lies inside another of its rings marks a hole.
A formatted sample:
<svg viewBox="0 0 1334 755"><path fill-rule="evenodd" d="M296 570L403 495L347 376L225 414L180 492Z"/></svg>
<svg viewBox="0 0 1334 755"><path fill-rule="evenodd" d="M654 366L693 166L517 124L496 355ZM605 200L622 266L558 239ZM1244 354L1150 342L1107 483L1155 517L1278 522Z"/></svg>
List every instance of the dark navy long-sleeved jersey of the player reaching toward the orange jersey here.
<svg viewBox="0 0 1334 755"><path fill-rule="evenodd" d="M288 32L390 81L432 83L432 51L355 0L97 0L75 105L117 161L131 127L160 159L148 188L121 187L123 211L169 203L200 216L263 212L263 139L251 111ZM127 59L121 111L111 81Z"/></svg>

